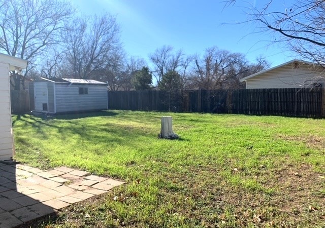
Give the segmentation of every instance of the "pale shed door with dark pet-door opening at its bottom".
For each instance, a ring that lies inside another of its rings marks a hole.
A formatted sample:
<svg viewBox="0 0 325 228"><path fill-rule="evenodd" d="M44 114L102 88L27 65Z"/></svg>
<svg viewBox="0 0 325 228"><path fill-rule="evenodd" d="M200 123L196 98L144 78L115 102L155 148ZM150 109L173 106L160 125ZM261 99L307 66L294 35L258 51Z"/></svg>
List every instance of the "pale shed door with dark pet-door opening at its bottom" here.
<svg viewBox="0 0 325 228"><path fill-rule="evenodd" d="M34 83L35 110L48 111L47 83Z"/></svg>

